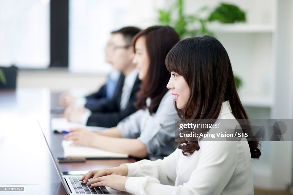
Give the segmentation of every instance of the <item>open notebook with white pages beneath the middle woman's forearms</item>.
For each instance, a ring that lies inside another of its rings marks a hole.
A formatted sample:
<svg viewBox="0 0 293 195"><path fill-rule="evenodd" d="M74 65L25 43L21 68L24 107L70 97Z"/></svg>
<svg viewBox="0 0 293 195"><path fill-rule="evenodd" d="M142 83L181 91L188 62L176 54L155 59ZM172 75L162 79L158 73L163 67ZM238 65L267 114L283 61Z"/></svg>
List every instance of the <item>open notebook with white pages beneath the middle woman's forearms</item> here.
<svg viewBox="0 0 293 195"><path fill-rule="evenodd" d="M85 157L87 159L128 158L127 154L110 152L98 148L70 145L72 141L62 141L65 157Z"/></svg>

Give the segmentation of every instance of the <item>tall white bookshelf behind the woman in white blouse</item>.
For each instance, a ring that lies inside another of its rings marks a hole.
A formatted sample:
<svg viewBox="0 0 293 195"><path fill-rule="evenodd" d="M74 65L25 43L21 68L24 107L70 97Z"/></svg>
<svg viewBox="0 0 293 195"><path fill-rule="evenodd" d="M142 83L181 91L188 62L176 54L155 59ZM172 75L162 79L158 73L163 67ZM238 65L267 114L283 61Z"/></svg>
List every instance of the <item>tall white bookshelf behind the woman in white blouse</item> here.
<svg viewBox="0 0 293 195"><path fill-rule="evenodd" d="M217 0L186 0L185 13ZM246 23L211 23L227 50L233 72L243 81L239 96L255 119L293 118L293 1L225 0L246 12ZM292 142L263 142L262 155L253 160L255 188L287 189L292 183Z"/></svg>

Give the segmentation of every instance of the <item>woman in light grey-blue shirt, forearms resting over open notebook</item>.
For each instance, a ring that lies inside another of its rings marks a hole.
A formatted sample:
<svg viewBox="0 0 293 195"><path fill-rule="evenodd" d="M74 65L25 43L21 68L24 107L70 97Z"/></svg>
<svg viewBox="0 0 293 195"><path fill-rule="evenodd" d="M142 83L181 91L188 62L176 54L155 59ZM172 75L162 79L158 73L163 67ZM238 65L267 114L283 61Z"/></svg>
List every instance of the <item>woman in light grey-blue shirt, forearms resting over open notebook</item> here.
<svg viewBox="0 0 293 195"><path fill-rule="evenodd" d="M168 26L152 26L140 31L132 40L133 63L142 80L137 93L137 112L113 127L95 133L86 129L70 129L66 140L137 158L156 160L171 154L176 148L175 119L178 119L171 90L166 88L169 72L165 59L179 41L176 31Z"/></svg>

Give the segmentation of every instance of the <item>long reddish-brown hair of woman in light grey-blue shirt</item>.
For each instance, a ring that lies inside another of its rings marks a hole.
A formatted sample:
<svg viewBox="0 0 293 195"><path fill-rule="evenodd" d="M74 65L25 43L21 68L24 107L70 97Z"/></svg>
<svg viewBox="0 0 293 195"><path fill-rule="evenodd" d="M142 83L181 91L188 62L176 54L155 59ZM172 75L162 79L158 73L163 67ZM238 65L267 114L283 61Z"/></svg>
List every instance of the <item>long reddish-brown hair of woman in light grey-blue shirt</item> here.
<svg viewBox="0 0 293 195"><path fill-rule="evenodd" d="M135 43L139 37L145 37L145 44L149 56L149 70L142 81L141 90L137 92L137 109L146 107L146 99L151 98L149 113L156 113L159 104L168 89L166 85L170 73L166 69L165 59L170 49L179 41L176 31L169 26L151 26L140 31L132 40Z"/></svg>

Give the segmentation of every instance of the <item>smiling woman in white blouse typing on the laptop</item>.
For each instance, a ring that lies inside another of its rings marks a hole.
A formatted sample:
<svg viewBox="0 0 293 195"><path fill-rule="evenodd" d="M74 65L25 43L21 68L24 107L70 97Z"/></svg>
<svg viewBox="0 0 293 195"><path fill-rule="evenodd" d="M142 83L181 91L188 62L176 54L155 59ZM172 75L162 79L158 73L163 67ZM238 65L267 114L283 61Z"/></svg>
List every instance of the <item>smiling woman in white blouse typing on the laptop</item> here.
<svg viewBox="0 0 293 195"><path fill-rule="evenodd" d="M217 39L180 41L167 55L166 66L171 72L167 88L180 118L248 118L228 54ZM251 133L249 128L242 130ZM177 141L178 148L163 160L89 171L81 181L92 177L91 187L109 186L133 194L254 194L251 158L261 155L258 141Z"/></svg>

